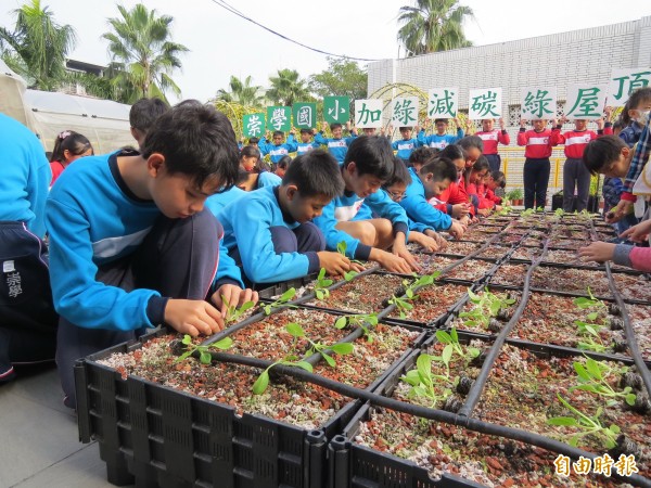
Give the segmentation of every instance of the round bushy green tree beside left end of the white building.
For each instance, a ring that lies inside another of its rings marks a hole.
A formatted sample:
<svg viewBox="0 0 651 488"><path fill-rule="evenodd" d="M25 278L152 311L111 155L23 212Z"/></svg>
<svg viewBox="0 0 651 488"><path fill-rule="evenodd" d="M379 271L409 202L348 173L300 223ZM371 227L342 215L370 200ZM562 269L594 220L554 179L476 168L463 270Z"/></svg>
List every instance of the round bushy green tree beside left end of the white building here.
<svg viewBox="0 0 651 488"><path fill-rule="evenodd" d="M328 69L309 77L309 89L319 97L366 99L368 75L350 60L328 57Z"/></svg>

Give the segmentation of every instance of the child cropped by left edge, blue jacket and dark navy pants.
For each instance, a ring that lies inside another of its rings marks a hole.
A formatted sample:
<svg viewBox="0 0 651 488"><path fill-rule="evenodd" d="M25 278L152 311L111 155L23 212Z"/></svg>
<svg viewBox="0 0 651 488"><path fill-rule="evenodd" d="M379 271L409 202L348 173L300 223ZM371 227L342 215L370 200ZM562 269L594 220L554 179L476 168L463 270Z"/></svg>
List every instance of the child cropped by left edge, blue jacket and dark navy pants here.
<svg viewBox="0 0 651 488"><path fill-rule="evenodd" d="M12 363L54 359L56 323L48 270L46 200L52 171L24 125L0 114L0 384Z"/></svg>

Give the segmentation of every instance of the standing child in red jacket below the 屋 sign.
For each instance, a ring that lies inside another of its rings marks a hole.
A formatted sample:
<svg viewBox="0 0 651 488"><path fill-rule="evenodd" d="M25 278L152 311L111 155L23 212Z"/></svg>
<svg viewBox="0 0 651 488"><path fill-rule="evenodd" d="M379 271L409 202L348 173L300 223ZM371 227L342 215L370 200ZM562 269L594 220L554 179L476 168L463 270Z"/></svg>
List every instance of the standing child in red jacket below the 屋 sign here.
<svg viewBox="0 0 651 488"><path fill-rule="evenodd" d="M610 119L610 112L608 113ZM577 118L574 120L574 130L561 133L563 124L567 118L563 117L559 125L551 130L551 142L553 145L565 144L565 164L563 165L563 210L582 211L588 207L590 193L590 171L583 164L583 153L592 139L599 136L612 134L613 129L610 121L603 126L603 119L597 120L597 132L587 129L587 120ZM574 208L574 189L576 188L576 208Z"/></svg>

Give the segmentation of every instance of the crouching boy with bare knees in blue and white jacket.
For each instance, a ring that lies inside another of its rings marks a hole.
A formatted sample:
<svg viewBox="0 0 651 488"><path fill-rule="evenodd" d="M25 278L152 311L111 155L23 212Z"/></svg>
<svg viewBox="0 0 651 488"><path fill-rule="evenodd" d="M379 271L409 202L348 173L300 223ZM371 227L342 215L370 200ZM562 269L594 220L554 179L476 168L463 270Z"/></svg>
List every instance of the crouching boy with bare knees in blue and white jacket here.
<svg viewBox="0 0 651 488"><path fill-rule="evenodd" d="M388 271L418 271L416 259L407 251L408 220L405 210L380 187L394 171L391 143L379 136L361 136L350 143L342 167L345 190L335 197L315 223L326 235L326 247L335 251L346 242L346 255L376 261ZM369 207L381 218L358 219L360 208ZM386 248L393 246L393 254Z"/></svg>

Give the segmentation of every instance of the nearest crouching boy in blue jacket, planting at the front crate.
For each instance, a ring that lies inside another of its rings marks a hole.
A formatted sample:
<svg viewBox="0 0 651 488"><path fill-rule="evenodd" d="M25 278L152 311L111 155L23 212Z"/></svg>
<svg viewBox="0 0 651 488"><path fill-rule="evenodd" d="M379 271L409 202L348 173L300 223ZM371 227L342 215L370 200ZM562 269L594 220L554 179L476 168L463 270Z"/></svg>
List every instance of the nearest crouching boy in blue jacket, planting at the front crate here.
<svg viewBox="0 0 651 488"><path fill-rule="evenodd" d="M151 127L142 153L89 156L48 197L56 362L65 404L75 408L73 365L148 329L210 335L226 303L257 300L216 240L206 197L238 175L228 118L182 102Z"/></svg>

